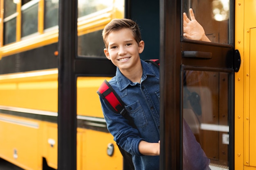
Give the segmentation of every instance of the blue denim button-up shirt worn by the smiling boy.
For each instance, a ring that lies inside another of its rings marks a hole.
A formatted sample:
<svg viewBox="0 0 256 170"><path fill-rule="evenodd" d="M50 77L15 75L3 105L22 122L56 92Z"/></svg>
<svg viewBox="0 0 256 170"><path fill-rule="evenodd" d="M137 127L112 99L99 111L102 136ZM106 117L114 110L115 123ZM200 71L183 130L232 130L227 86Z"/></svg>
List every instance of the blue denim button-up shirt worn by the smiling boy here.
<svg viewBox="0 0 256 170"><path fill-rule="evenodd" d="M110 85L126 104L126 111L132 117L136 128L129 125L121 114L114 113L100 98L108 131L115 142L132 154L135 170L158 170L159 156L145 156L139 153L139 142L158 142L160 139L160 91L159 68L141 60L141 83L133 83L117 68Z"/></svg>

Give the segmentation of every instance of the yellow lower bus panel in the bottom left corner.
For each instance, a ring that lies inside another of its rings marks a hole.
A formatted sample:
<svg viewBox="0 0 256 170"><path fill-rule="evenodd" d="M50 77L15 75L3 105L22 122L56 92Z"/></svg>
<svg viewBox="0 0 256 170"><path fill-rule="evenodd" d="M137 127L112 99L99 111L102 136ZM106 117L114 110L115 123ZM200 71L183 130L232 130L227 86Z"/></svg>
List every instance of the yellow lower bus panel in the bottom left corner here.
<svg viewBox="0 0 256 170"><path fill-rule="evenodd" d="M38 121L0 113L0 157L26 170L39 170L39 127Z"/></svg>

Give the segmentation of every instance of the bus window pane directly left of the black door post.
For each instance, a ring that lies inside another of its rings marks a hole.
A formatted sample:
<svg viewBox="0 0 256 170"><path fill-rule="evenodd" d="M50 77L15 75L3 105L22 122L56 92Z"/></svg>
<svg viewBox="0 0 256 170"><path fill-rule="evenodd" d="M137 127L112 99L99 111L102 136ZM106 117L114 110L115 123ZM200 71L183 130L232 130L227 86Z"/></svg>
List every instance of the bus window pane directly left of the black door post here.
<svg viewBox="0 0 256 170"><path fill-rule="evenodd" d="M44 29L58 25L58 0L45 0Z"/></svg>

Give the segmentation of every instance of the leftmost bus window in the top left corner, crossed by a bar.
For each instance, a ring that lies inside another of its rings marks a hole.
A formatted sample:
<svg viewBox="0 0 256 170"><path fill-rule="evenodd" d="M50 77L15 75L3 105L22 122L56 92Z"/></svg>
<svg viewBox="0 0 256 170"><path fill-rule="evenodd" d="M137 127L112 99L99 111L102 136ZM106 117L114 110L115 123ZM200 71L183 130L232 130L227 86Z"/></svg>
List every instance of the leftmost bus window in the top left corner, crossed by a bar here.
<svg viewBox="0 0 256 170"><path fill-rule="evenodd" d="M4 0L4 45L16 41L16 3Z"/></svg>

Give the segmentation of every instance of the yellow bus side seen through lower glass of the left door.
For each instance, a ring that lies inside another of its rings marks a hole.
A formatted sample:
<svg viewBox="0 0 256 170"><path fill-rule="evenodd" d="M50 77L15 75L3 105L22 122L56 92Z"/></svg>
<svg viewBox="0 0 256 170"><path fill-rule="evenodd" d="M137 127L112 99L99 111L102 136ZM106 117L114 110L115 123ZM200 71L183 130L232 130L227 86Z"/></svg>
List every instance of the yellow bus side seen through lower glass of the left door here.
<svg viewBox="0 0 256 170"><path fill-rule="evenodd" d="M77 78L77 114L79 116L103 118L97 90L104 79L110 80L110 77ZM77 148L77 154L82 150L81 170L121 170L123 164L122 155L113 141L113 136L106 129L106 123L84 122L83 126L90 129L83 129L83 146L82 148ZM100 128L99 126L102 127ZM107 154L108 145L110 144L114 146L112 156Z"/></svg>

